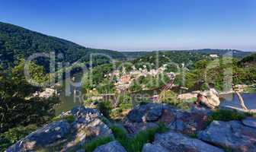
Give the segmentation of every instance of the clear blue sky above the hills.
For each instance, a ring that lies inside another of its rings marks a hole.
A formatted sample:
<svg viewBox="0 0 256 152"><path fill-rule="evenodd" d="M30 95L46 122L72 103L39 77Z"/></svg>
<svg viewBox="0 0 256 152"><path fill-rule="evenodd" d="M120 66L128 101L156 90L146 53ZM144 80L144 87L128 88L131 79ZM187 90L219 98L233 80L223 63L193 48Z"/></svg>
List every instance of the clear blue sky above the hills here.
<svg viewBox="0 0 256 152"><path fill-rule="evenodd" d="M0 21L120 51L256 50L255 0L0 0Z"/></svg>

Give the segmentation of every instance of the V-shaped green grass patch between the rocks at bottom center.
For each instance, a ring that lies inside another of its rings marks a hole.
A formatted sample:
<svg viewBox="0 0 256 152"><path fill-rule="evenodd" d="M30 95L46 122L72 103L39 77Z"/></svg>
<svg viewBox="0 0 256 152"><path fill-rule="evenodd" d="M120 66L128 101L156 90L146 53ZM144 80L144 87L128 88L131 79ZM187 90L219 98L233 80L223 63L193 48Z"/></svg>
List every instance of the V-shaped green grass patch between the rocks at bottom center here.
<svg viewBox="0 0 256 152"><path fill-rule="evenodd" d="M160 123L156 128L149 128L145 131L140 131L134 138L128 138L127 133L123 128L112 126L111 129L114 132L114 137L128 152L141 151L144 144L154 140L156 133L168 131L168 128L166 128L164 124Z"/></svg>

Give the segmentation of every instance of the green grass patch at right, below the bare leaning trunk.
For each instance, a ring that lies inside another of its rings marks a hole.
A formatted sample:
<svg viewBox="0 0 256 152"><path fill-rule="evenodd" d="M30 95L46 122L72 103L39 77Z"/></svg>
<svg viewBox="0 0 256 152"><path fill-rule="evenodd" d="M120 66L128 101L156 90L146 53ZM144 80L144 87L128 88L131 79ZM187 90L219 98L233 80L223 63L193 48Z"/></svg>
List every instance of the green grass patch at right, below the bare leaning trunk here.
<svg viewBox="0 0 256 152"><path fill-rule="evenodd" d="M237 112L236 110L228 109L216 109L207 119L207 125L210 125L213 120L229 122L232 120L242 120L245 119L246 114L242 112Z"/></svg>

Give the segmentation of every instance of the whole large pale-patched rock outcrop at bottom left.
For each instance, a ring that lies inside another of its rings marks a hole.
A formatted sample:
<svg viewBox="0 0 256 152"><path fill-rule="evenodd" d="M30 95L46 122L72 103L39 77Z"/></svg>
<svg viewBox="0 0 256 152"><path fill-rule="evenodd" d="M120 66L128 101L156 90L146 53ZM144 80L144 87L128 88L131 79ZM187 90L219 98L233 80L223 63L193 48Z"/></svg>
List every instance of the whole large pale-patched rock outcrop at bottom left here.
<svg viewBox="0 0 256 152"><path fill-rule="evenodd" d="M74 117L74 122L53 122L27 135L7 151L55 150L68 151L95 138L113 137L110 128L102 122L103 116L96 109L77 106L62 113L62 119Z"/></svg>

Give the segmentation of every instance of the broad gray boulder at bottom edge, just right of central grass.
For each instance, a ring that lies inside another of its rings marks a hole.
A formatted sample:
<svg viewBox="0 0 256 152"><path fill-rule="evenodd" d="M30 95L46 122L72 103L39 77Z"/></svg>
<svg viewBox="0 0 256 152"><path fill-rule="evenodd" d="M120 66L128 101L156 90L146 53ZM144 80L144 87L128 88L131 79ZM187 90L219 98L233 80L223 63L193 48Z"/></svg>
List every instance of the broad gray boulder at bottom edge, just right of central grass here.
<svg viewBox="0 0 256 152"><path fill-rule="evenodd" d="M223 152L219 147L206 144L194 138L188 138L174 131L155 135L153 144L145 144L142 152L151 151L175 151L175 152Z"/></svg>

